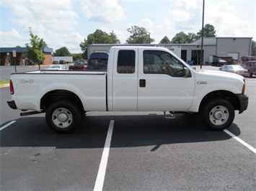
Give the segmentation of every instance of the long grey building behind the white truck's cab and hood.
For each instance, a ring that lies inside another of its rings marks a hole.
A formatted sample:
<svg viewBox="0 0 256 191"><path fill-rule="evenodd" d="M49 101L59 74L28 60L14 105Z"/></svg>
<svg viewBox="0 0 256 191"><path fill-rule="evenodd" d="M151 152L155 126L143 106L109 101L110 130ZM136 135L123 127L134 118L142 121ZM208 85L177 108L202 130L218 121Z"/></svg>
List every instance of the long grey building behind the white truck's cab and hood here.
<svg viewBox="0 0 256 191"><path fill-rule="evenodd" d="M112 46L134 46L125 45L88 45L88 57L92 52L110 52ZM195 40L191 44L147 44L143 46L167 47L175 50L181 47L180 56L185 62L194 61L195 65L200 65L201 39ZM203 38L203 65L213 62L213 56L232 57L239 59L243 56L250 56L252 49L252 37L205 37ZM175 51L173 51L175 52ZM175 52L177 55L177 52Z"/></svg>

